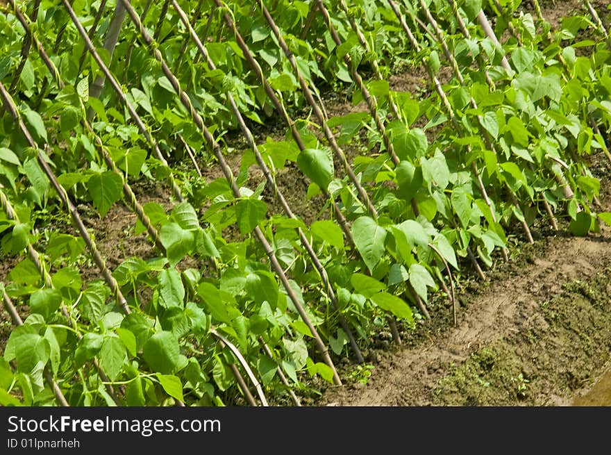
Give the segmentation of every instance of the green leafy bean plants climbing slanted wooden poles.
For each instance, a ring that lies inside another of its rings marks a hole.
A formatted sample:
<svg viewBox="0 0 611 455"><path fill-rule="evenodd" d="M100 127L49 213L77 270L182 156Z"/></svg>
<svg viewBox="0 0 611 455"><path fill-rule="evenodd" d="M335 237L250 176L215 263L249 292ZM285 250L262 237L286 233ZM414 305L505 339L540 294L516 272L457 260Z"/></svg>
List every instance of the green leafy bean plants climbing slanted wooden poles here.
<svg viewBox="0 0 611 455"><path fill-rule="evenodd" d="M585 160L609 156L594 15L553 31L520 2L9 3L0 233L18 259L1 292L29 315L0 361L3 404L298 404L305 378L340 384L338 358L362 363L387 324L400 341L539 220L611 222ZM392 90L415 62L421 92ZM330 117L328 88L364 110ZM285 138L256 140L274 110ZM291 172L324 201L311 224L278 184ZM169 183L169 208L140 203L143 179ZM77 203L105 217L121 200L154 257L109 270Z"/></svg>

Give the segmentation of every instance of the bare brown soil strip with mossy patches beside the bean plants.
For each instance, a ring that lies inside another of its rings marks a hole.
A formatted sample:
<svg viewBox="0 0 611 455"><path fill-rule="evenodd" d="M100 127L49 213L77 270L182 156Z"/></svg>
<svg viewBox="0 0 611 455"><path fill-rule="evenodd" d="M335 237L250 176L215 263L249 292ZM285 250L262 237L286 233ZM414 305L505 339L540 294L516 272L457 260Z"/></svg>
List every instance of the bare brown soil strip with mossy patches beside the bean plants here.
<svg viewBox="0 0 611 455"><path fill-rule="evenodd" d="M524 263L460 292L458 326L433 322L426 339L378 351L367 386L331 390L321 404L570 404L611 355L611 237L558 236L526 250Z"/></svg>

